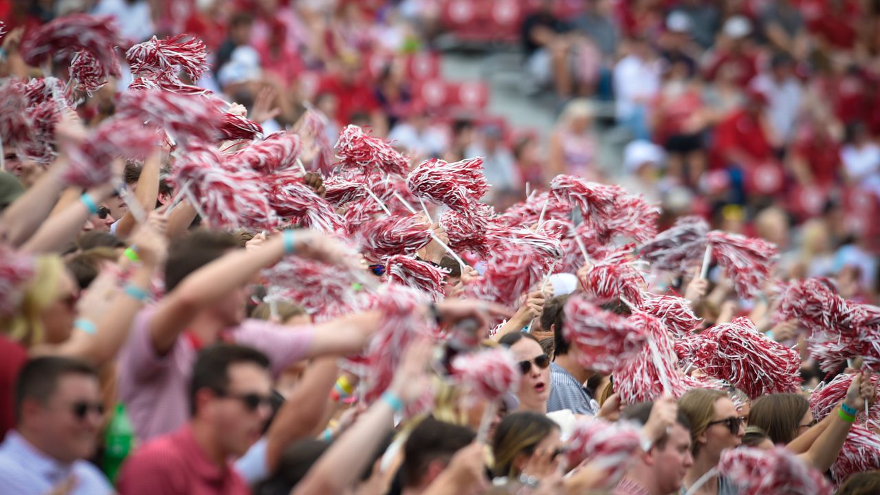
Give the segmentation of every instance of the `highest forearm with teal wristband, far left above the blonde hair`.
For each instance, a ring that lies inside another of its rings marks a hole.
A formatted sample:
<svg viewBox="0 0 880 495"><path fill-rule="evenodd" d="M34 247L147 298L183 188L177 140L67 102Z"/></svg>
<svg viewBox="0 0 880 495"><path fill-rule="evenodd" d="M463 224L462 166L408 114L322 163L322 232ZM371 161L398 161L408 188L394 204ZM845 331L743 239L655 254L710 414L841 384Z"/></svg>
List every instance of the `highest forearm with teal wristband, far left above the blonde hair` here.
<svg viewBox="0 0 880 495"><path fill-rule="evenodd" d="M113 194L112 186L101 186L87 192L97 205ZM57 252L83 230L83 225L92 215L92 211L82 201L70 204L61 213L49 218L40 225L33 236L21 249L27 253L42 254Z"/></svg>

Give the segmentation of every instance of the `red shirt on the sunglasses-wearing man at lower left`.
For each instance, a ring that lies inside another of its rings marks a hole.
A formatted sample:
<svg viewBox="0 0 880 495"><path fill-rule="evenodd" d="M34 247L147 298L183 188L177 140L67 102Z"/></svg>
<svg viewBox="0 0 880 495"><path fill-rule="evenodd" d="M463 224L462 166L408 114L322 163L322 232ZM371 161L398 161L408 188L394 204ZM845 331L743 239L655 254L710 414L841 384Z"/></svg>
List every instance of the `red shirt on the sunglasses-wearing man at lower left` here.
<svg viewBox="0 0 880 495"><path fill-rule="evenodd" d="M192 427L151 440L122 465L120 495L248 495L245 480L227 462L217 466L195 443Z"/></svg>

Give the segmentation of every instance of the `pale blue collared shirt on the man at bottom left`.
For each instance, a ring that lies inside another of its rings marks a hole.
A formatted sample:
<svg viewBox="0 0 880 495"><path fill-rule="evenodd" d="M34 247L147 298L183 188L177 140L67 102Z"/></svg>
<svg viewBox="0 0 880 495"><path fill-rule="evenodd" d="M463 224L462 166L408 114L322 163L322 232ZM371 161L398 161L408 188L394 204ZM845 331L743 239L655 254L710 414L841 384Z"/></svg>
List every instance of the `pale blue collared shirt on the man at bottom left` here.
<svg viewBox="0 0 880 495"><path fill-rule="evenodd" d="M107 478L83 460L71 464L58 462L33 447L15 430L0 444L0 493L4 495L43 495L73 477L70 495L113 493Z"/></svg>

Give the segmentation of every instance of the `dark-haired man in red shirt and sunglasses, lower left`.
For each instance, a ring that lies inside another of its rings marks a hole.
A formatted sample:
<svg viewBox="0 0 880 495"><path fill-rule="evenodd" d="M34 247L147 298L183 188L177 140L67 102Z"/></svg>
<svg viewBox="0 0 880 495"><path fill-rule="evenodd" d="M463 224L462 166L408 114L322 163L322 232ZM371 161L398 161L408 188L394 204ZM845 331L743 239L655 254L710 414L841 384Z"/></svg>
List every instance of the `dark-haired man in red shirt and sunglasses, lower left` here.
<svg viewBox="0 0 880 495"><path fill-rule="evenodd" d="M269 359L260 351L232 344L200 351L189 387L191 419L128 459L121 495L250 493L230 459L260 440L271 391Z"/></svg>

